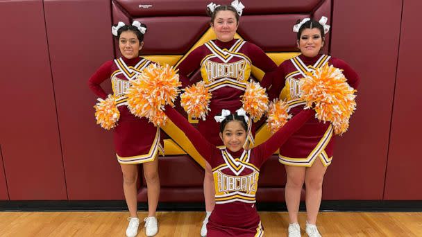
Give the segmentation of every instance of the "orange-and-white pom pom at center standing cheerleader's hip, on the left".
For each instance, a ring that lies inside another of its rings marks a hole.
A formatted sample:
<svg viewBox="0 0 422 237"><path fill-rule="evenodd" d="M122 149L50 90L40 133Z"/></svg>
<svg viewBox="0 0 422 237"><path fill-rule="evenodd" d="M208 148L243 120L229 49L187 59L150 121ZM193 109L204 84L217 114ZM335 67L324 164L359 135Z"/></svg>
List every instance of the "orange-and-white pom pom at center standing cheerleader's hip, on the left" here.
<svg viewBox="0 0 422 237"><path fill-rule="evenodd" d="M205 87L205 83L201 81L192 87L185 88L185 92L180 95L180 105L193 118L205 120L205 116L210 111L210 98L211 93Z"/></svg>

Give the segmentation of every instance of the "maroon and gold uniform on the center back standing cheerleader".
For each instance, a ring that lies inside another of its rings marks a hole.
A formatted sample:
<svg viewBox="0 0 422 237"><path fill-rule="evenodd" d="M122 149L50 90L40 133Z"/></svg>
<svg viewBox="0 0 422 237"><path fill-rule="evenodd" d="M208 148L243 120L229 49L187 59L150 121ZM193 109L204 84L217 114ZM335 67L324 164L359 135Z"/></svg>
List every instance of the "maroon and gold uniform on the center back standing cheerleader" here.
<svg viewBox="0 0 422 237"><path fill-rule="evenodd" d="M215 146L221 146L219 125L214 116L221 109L234 113L242 107L240 96L244 94L246 82L250 80L252 65L266 74L261 85L271 84L277 65L255 44L233 39L230 42L211 40L194 49L179 65L179 76L183 86L190 84L187 76L196 69L201 69L201 77L212 93L210 113L205 121L199 121L198 130ZM251 133L249 141L253 143Z"/></svg>

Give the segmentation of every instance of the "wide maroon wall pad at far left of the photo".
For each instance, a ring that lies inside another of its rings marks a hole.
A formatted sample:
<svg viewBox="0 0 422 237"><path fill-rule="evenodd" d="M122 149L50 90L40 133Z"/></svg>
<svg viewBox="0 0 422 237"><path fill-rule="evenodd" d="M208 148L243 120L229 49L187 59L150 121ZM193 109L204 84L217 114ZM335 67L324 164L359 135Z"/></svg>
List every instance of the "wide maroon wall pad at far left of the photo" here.
<svg viewBox="0 0 422 237"><path fill-rule="evenodd" d="M42 1L0 1L0 21L0 139L10 200L66 200Z"/></svg>

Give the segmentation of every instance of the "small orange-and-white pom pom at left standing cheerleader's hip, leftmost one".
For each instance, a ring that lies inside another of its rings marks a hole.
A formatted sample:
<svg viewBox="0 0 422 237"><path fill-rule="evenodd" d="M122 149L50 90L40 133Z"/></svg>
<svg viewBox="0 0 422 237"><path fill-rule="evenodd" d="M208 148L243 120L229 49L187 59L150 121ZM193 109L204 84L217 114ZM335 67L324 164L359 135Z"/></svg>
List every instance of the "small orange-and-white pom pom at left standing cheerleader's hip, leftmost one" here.
<svg viewBox="0 0 422 237"><path fill-rule="evenodd" d="M99 103L94 105L96 124L101 128L110 130L115 128L120 118L119 109L117 109L115 96L108 95L105 100L99 98Z"/></svg>

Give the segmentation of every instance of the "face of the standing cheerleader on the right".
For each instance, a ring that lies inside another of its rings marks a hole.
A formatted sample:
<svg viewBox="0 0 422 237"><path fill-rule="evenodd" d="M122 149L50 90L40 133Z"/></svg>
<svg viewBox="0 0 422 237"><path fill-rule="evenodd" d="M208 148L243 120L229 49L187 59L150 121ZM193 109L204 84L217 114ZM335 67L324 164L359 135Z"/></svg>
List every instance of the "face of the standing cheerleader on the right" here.
<svg viewBox="0 0 422 237"><path fill-rule="evenodd" d="M324 46L321 30L319 28L306 28L302 31L297 44L303 55L309 58L315 57Z"/></svg>

